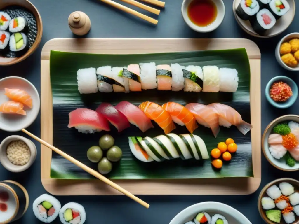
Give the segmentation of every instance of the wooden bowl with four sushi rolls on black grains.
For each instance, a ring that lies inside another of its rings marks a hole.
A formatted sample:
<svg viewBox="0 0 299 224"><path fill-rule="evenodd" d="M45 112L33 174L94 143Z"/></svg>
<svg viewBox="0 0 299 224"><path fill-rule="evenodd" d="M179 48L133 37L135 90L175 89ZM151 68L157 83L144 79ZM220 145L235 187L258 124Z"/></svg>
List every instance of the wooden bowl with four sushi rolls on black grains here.
<svg viewBox="0 0 299 224"><path fill-rule="evenodd" d="M0 66L30 56L42 39L42 18L28 0L0 0Z"/></svg>

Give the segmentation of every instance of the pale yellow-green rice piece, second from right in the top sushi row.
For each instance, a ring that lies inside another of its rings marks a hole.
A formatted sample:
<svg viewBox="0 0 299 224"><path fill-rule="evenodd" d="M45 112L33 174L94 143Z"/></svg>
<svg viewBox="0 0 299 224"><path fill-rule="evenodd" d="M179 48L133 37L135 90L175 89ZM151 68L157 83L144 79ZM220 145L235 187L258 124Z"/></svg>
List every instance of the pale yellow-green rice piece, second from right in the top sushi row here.
<svg viewBox="0 0 299 224"><path fill-rule="evenodd" d="M219 68L215 65L202 67L203 72L203 92L219 92Z"/></svg>

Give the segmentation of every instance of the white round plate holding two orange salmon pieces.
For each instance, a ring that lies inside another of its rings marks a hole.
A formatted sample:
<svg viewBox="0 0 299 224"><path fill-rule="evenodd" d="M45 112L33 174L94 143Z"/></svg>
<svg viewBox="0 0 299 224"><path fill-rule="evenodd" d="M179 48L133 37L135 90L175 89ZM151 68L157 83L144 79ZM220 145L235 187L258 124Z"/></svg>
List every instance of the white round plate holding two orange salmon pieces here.
<svg viewBox="0 0 299 224"><path fill-rule="evenodd" d="M4 88L18 88L24 90L32 98L32 108L30 109L29 107L24 106L26 115L0 113L0 129L10 132L21 131L22 128L27 128L28 126L30 126L35 121L39 113L39 94L35 86L27 79L18 76L9 76L0 79L0 105L10 100L7 96L4 95Z"/></svg>

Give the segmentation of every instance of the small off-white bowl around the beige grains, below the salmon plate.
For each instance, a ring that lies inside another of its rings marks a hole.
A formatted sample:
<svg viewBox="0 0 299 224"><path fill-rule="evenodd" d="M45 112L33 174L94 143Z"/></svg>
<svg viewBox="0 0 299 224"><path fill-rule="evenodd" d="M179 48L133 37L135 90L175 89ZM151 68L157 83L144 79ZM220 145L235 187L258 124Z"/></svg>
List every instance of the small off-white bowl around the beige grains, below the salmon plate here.
<svg viewBox="0 0 299 224"><path fill-rule="evenodd" d="M6 153L8 144L12 141L18 141L18 140L21 140L21 141L25 142L26 145L28 145L29 150L30 150L30 155L31 155L28 163L26 163L23 166L14 165L13 163L11 163L8 160L7 153ZM11 135L11 136L8 136L7 138L5 138L0 144L0 162L4 166L4 168L6 168L10 172L19 173L19 172L27 170L33 164L35 159L36 159L36 146L34 145L34 143L31 140L29 140L25 137L22 137L19 135Z"/></svg>

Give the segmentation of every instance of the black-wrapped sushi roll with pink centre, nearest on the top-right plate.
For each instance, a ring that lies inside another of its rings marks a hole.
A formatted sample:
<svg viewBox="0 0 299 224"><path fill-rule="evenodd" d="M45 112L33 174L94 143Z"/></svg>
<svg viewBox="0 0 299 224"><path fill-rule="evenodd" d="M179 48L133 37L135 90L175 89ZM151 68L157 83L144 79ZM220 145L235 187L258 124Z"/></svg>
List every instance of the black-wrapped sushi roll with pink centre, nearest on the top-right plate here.
<svg viewBox="0 0 299 224"><path fill-rule="evenodd" d="M250 19L250 23L256 33L264 35L275 25L276 19L268 9L262 9Z"/></svg>

